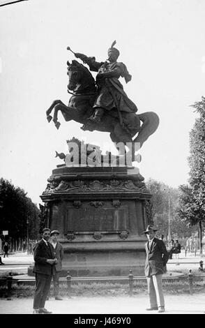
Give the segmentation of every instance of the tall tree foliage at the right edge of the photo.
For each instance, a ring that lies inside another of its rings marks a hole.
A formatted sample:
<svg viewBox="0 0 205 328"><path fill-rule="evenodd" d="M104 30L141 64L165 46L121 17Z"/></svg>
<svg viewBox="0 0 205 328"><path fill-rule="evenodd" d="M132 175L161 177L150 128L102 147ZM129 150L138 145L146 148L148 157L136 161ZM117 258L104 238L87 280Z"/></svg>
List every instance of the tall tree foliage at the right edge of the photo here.
<svg viewBox="0 0 205 328"><path fill-rule="evenodd" d="M205 98L192 105L199 117L190 132L189 185L181 186L179 217L196 225L205 218Z"/></svg>

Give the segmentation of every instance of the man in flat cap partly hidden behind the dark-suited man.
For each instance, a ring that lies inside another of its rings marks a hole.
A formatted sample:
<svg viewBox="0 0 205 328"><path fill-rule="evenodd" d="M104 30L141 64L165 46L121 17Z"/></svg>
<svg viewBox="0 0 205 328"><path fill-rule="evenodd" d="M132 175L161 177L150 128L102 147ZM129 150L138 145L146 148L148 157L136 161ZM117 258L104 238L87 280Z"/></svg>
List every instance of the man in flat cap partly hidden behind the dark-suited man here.
<svg viewBox="0 0 205 328"><path fill-rule="evenodd" d="M59 296L59 278L60 271L62 269L62 260L63 260L63 246L59 243L59 230L53 230L50 233L50 243L54 248L54 257L58 262L54 265L53 270L53 281L54 281L54 297L57 301L61 301L62 298Z"/></svg>

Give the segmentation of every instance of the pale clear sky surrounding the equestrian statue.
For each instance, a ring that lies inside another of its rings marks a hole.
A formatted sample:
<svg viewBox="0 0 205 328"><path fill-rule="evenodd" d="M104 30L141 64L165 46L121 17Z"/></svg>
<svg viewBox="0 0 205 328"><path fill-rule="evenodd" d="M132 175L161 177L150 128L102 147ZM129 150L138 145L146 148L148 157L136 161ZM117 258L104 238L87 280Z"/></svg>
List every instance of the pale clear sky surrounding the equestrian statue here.
<svg viewBox="0 0 205 328"><path fill-rule="evenodd" d="M2 1L3 2L3 1ZM1 4L1 1L0 1ZM0 177L42 202L52 170L63 163L73 136L114 149L109 133L82 131L59 114L57 130L46 110L68 104L67 60L74 52L107 59L116 40L121 80L138 113L153 111L158 130L143 145L140 173L178 187L188 182L189 133L204 96L204 0L29 0L0 7Z"/></svg>

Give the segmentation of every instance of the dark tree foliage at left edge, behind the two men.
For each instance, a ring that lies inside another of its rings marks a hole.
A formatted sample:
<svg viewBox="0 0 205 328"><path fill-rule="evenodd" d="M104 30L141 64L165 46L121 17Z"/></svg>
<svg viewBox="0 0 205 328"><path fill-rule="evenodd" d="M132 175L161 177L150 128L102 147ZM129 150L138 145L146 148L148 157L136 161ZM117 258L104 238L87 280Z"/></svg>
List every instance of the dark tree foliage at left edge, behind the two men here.
<svg viewBox="0 0 205 328"><path fill-rule="evenodd" d="M10 237L26 237L29 220L29 238L36 239L39 230L40 211L36 204L26 196L20 187L15 187L10 181L0 179L0 227L8 230Z"/></svg>

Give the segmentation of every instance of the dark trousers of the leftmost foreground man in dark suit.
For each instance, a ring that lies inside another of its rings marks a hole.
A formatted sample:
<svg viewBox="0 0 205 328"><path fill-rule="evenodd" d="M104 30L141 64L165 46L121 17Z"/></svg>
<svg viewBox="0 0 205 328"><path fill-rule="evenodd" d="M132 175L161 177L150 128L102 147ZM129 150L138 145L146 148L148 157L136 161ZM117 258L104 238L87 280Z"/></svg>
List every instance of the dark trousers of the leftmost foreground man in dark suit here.
<svg viewBox="0 0 205 328"><path fill-rule="evenodd" d="M36 290L33 299L33 308L44 308L47 295L50 292L52 276L36 274Z"/></svg>

